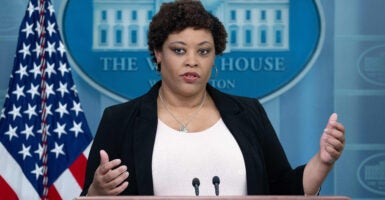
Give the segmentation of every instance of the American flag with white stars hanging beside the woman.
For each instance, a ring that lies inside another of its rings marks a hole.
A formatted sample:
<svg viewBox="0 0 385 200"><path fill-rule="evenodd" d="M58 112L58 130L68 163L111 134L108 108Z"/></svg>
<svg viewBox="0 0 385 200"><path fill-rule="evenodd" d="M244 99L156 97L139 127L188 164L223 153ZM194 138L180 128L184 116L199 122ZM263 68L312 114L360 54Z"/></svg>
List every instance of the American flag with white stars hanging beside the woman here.
<svg viewBox="0 0 385 200"><path fill-rule="evenodd" d="M30 0L0 115L0 199L73 199L92 134L53 5Z"/></svg>

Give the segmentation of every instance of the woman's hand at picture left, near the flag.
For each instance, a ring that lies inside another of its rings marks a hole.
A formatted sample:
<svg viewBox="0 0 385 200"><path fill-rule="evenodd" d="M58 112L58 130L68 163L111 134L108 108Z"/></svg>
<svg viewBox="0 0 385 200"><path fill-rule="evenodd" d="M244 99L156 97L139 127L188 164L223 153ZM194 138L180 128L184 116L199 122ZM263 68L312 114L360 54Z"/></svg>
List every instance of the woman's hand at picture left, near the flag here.
<svg viewBox="0 0 385 200"><path fill-rule="evenodd" d="M95 171L94 179L88 188L87 196L97 195L118 195L127 186L128 178L127 166L122 165L120 159L109 161L106 151L100 151L100 165Z"/></svg>

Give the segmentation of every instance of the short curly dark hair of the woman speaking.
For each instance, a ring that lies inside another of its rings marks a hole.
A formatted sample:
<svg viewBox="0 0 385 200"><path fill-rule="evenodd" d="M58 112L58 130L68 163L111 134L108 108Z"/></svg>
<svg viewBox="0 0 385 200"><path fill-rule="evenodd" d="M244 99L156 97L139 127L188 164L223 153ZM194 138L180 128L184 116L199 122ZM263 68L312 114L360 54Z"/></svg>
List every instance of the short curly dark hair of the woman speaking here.
<svg viewBox="0 0 385 200"><path fill-rule="evenodd" d="M148 49L156 63L154 50L161 50L168 35L192 27L211 32L214 38L215 54L220 55L226 48L226 29L217 17L209 13L197 0L177 0L163 3L154 15L148 31ZM160 70L160 66L158 66Z"/></svg>

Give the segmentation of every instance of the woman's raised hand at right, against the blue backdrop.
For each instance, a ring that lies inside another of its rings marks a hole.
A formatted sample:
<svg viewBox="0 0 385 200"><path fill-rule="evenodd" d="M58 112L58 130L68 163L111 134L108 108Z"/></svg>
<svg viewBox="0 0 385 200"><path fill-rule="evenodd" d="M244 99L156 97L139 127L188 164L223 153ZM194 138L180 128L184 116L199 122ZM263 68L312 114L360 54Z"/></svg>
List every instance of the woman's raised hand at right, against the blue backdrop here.
<svg viewBox="0 0 385 200"><path fill-rule="evenodd" d="M337 114L333 113L321 136L320 155L321 161L333 164L342 153L345 146L345 128L337 121Z"/></svg>

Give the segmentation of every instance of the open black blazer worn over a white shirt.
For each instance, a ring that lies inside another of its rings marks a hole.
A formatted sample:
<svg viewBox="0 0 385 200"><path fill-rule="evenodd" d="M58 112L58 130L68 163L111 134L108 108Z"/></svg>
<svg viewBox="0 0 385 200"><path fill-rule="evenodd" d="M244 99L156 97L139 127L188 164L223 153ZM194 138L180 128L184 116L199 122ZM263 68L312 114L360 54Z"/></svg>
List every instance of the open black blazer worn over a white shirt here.
<svg viewBox="0 0 385 200"><path fill-rule="evenodd" d="M161 82L145 95L104 110L87 163L82 195L99 165L99 151L119 158L130 173L121 195L154 195L152 152L157 129L157 96ZM265 110L257 99L228 95L207 85L227 128L243 154L249 195L304 194L304 165L292 169ZM229 160L231 162L231 160Z"/></svg>

